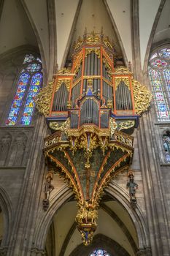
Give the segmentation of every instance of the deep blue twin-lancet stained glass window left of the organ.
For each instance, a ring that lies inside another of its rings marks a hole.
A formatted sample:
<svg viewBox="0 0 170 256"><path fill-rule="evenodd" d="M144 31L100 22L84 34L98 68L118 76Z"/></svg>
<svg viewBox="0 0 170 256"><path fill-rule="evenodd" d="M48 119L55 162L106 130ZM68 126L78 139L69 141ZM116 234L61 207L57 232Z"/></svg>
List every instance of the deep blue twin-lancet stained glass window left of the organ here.
<svg viewBox="0 0 170 256"><path fill-rule="evenodd" d="M32 54L26 54L6 125L31 124L35 108L35 98L42 86L41 69L41 60Z"/></svg>

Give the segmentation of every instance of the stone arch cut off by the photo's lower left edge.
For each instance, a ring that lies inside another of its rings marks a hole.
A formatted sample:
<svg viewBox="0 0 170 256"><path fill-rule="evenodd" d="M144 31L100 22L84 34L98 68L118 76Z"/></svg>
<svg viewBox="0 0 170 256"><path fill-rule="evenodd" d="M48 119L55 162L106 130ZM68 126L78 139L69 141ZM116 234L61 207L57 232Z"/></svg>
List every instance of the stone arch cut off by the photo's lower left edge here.
<svg viewBox="0 0 170 256"><path fill-rule="evenodd" d="M12 230L13 214L12 214L12 204L9 200L7 192L0 187L0 206L4 217L4 236L1 241L1 247L6 246L9 243L9 235Z"/></svg>

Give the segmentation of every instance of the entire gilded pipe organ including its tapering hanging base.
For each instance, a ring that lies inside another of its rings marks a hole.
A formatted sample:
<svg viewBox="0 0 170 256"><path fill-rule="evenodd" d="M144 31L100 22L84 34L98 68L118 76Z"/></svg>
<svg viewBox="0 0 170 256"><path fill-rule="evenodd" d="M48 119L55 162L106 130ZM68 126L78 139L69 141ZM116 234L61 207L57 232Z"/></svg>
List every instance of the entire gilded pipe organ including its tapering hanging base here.
<svg viewBox="0 0 170 256"><path fill-rule="evenodd" d="M36 100L52 131L45 138L47 181L60 173L72 187L85 245L97 227L104 187L117 173L129 173L134 153L130 134L151 100L150 91L127 68L115 67L114 60L108 37L85 34L74 45L72 69L59 70ZM49 204L45 197L45 210Z"/></svg>

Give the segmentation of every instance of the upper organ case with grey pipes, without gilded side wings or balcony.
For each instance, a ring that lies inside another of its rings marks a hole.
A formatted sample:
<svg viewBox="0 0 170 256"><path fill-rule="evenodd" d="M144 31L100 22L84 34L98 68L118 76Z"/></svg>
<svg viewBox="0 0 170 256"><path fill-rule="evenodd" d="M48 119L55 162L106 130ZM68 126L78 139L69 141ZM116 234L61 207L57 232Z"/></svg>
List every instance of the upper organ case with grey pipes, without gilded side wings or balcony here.
<svg viewBox="0 0 170 256"><path fill-rule="evenodd" d="M132 73L125 67L115 68L114 58L114 46L102 34L86 35L78 41L72 69L61 69L54 75L47 120L70 117L74 129L82 124L109 128L112 116L115 120L131 118L136 127L140 113L135 106Z"/></svg>

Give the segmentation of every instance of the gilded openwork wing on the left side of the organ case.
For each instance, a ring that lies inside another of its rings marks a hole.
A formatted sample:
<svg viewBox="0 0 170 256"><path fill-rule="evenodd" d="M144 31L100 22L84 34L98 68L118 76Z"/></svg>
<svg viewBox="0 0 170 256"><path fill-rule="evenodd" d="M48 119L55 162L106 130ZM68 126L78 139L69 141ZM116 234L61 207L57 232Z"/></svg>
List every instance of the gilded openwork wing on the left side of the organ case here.
<svg viewBox="0 0 170 256"><path fill-rule="evenodd" d="M40 90L38 96L36 97L36 108L39 113L47 116L50 113L50 102L53 95L54 82L48 83L43 89Z"/></svg>

